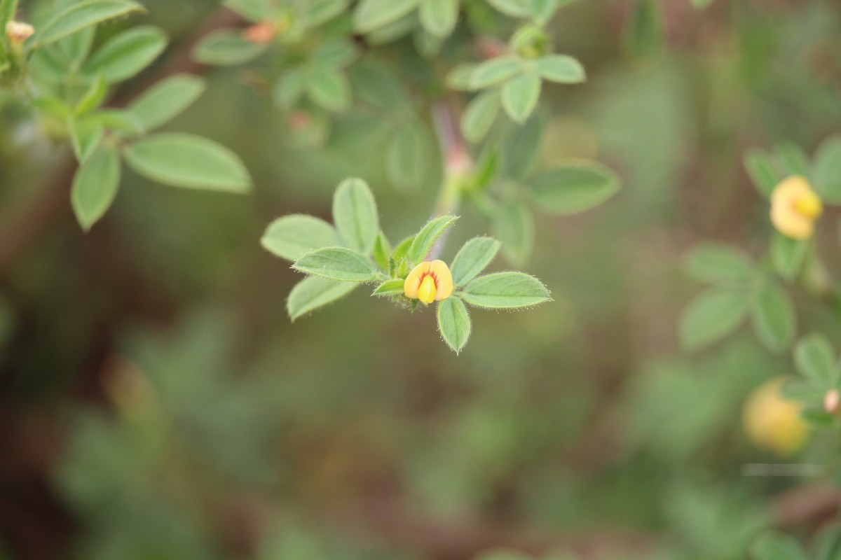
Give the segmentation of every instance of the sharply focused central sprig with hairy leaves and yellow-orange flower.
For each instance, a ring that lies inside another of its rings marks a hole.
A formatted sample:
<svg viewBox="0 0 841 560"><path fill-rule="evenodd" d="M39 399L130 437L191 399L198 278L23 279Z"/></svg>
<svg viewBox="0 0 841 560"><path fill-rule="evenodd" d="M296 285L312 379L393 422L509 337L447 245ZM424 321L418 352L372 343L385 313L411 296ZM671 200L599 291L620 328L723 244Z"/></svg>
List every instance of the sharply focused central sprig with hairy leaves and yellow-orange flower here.
<svg viewBox="0 0 841 560"><path fill-rule="evenodd" d="M521 272L480 275L500 250L493 238L470 239L450 265L435 259L436 242L456 220L436 217L392 248L379 229L368 185L347 179L333 197L333 224L304 214L280 217L268 226L261 243L306 275L288 296L293 321L369 284L374 286L372 296L411 310L436 303L438 331L459 353L472 329L468 306L522 309L551 298L540 280Z"/></svg>

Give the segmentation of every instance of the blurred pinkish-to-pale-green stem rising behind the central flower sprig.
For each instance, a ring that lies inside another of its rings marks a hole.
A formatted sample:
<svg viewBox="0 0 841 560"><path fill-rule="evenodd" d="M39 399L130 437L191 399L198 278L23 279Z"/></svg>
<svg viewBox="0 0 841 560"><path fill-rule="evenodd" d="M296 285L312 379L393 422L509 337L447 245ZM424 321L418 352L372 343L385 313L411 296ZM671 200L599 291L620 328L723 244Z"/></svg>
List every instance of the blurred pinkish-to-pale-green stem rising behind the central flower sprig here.
<svg viewBox="0 0 841 560"><path fill-rule="evenodd" d="M444 214L455 214L462 201L465 177L473 169L467 144L458 128L458 109L452 98L444 98L432 107L438 144L444 161L444 176L430 219ZM437 259L447 243L447 232L438 238L427 255L427 260Z"/></svg>

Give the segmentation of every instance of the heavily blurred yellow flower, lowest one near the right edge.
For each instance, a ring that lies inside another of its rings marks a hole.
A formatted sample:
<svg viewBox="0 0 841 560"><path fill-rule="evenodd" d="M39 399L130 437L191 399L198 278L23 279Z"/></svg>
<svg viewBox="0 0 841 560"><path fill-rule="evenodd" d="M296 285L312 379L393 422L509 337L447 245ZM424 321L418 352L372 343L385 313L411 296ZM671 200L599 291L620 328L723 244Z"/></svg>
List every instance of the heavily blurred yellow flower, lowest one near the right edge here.
<svg viewBox="0 0 841 560"><path fill-rule="evenodd" d="M785 378L771 379L754 390L744 404L742 421L756 447L780 456L796 453L806 442L808 425L802 405L781 394Z"/></svg>

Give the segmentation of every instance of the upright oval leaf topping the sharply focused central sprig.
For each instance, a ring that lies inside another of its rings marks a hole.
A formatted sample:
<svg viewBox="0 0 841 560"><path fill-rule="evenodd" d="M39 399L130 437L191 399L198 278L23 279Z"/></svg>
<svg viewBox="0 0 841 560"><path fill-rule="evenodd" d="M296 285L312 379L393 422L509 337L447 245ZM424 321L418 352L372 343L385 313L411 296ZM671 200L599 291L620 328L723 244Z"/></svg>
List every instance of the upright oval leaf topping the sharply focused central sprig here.
<svg viewBox="0 0 841 560"><path fill-rule="evenodd" d="M333 223L348 247L371 254L379 233L379 215L368 183L362 179L341 181L333 195Z"/></svg>

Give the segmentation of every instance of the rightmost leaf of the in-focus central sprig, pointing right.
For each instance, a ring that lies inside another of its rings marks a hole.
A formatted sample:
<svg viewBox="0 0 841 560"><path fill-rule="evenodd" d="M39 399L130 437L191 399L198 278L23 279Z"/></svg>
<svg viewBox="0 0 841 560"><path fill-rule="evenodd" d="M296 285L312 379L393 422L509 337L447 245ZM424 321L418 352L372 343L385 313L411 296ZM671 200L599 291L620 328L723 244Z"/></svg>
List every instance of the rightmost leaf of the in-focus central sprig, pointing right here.
<svg viewBox="0 0 841 560"><path fill-rule="evenodd" d="M462 297L472 306L489 309L530 307L552 299L540 280L522 272L479 276L464 286Z"/></svg>

